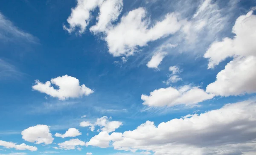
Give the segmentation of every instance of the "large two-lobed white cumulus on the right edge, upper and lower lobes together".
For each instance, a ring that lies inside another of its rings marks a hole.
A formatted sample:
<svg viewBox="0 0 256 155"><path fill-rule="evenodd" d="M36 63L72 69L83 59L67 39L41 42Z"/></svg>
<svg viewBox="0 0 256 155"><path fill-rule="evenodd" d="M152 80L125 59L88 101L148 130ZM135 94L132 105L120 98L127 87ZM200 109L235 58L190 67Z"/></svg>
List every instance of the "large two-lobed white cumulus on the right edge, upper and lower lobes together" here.
<svg viewBox="0 0 256 155"><path fill-rule="evenodd" d="M210 45L205 58L209 58L208 68L214 68L227 57L234 57L221 70L215 82L209 84L206 91L219 96L243 95L256 92L256 15L253 11L240 16L232 32L236 36L224 38Z"/></svg>

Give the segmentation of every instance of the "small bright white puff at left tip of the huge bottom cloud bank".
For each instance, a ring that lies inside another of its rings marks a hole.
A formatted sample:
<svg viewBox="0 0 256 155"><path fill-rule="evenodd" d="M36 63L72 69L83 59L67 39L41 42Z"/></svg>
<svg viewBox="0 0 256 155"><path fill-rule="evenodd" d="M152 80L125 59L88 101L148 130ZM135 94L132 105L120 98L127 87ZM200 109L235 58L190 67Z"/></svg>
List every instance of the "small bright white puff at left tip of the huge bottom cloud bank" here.
<svg viewBox="0 0 256 155"><path fill-rule="evenodd" d="M110 141L117 141L122 138L122 133L113 132L111 135L108 134L106 131L99 132L98 135L95 135L90 141L86 142L86 146L95 146L95 147L102 147L106 148L109 147Z"/></svg>

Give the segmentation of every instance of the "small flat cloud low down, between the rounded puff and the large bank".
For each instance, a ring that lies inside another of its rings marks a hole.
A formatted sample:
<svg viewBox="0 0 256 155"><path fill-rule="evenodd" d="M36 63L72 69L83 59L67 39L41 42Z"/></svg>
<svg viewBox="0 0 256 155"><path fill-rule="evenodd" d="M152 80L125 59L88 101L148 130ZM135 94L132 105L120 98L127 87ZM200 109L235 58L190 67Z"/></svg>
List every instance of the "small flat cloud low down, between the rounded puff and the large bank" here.
<svg viewBox="0 0 256 155"><path fill-rule="evenodd" d="M69 141L64 141L63 143L58 143L60 149L70 150L78 149L77 146L85 146L85 142L79 139L70 139Z"/></svg>

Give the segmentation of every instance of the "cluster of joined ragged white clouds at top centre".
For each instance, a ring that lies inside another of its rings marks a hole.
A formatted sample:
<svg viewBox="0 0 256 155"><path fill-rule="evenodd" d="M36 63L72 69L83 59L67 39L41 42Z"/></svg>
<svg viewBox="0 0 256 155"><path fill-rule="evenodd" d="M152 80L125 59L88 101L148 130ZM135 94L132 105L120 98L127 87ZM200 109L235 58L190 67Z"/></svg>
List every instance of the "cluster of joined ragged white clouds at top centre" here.
<svg viewBox="0 0 256 155"><path fill-rule="evenodd" d="M138 47L175 34L181 28L182 22L178 21L175 13L166 14L162 20L151 26L144 8L129 11L121 17L119 23L113 25L112 22L119 17L122 6L122 0L78 0L76 8L72 8L67 19L69 28L64 25L64 29L71 33L78 27L79 33L83 33L92 17L90 12L99 7L98 22L90 27L90 31L105 34L109 53L113 56L129 56L134 54Z"/></svg>

